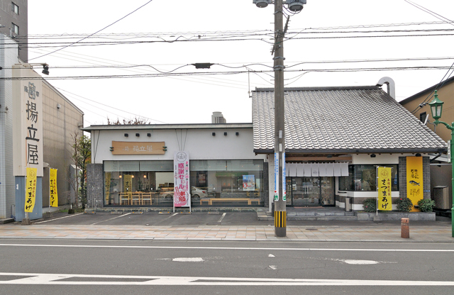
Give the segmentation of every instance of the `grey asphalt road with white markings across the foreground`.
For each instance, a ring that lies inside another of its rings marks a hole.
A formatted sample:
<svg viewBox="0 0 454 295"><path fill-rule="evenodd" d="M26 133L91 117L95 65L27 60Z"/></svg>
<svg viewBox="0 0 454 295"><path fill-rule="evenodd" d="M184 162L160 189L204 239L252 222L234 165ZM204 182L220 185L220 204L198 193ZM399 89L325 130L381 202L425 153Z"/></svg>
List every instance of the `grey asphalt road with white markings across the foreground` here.
<svg viewBox="0 0 454 295"><path fill-rule="evenodd" d="M1 294L453 294L453 243L0 240Z"/></svg>

